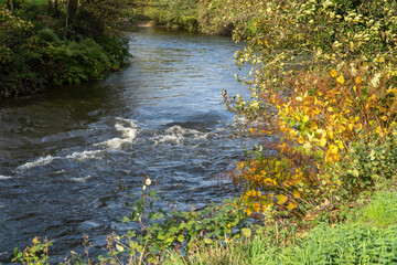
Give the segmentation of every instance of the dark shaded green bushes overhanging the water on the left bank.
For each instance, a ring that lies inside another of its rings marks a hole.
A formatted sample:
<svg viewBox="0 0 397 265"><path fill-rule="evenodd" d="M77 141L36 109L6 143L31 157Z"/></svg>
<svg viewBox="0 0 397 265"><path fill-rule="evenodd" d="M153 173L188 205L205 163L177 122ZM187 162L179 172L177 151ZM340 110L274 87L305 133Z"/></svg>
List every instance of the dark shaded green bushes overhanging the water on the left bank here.
<svg viewBox="0 0 397 265"><path fill-rule="evenodd" d="M127 43L96 8L81 6L73 23L69 19L66 24L66 6L21 1L9 10L1 4L0 97L100 80L109 71L120 70L129 56Z"/></svg>

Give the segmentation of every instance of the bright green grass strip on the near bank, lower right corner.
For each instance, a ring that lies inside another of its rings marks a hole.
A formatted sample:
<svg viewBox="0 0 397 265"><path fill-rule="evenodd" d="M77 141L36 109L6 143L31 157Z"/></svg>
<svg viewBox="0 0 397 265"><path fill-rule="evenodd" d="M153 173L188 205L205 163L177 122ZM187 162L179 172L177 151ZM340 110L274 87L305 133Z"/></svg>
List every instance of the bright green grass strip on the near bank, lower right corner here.
<svg viewBox="0 0 397 265"><path fill-rule="evenodd" d="M171 253L165 264L397 264L397 193L377 192L355 216L335 227L319 225L286 247L257 235L207 246L184 258Z"/></svg>

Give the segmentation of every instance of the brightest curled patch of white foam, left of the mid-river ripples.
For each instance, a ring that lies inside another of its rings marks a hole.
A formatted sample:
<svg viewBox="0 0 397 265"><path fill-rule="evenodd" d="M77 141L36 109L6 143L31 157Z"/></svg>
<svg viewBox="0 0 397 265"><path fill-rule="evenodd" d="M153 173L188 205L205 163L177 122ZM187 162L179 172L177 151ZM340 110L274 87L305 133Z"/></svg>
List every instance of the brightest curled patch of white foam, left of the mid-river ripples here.
<svg viewBox="0 0 397 265"><path fill-rule="evenodd" d="M131 119L116 118L115 129L122 138L112 138L96 146L107 146L110 150L120 150L124 145L132 145L138 136L138 125Z"/></svg>

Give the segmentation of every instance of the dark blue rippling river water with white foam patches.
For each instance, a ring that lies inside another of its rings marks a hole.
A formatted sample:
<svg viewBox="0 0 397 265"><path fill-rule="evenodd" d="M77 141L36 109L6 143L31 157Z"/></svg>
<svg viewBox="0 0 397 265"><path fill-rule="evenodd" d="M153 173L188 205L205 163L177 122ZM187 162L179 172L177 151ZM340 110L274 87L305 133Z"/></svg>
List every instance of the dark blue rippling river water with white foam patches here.
<svg viewBox="0 0 397 265"><path fill-rule="evenodd" d="M160 29L131 33L131 64L103 82L0 102L0 263L34 236L53 255L94 254L155 179L180 209L229 195L214 176L243 156L222 89L244 91L228 38ZM119 180L118 180L119 179Z"/></svg>

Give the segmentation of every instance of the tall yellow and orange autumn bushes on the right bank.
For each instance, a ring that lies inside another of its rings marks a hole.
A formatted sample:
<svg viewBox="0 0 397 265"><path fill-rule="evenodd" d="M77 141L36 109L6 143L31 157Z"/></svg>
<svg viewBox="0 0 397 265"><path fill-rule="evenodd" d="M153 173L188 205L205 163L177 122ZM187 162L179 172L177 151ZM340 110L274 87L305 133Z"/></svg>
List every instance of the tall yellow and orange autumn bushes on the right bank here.
<svg viewBox="0 0 397 265"><path fill-rule="evenodd" d="M396 177L395 1L224 1L246 100L228 98L262 149L238 165L247 211L337 209ZM277 139L277 140L275 140Z"/></svg>

